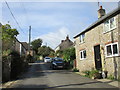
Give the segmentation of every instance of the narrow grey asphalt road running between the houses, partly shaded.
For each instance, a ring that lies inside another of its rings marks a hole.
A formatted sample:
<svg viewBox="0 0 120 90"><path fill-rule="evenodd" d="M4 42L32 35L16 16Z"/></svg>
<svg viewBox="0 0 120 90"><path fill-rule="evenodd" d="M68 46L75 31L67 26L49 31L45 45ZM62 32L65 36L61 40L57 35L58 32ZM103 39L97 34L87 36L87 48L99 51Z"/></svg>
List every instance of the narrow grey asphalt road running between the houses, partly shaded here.
<svg viewBox="0 0 120 90"><path fill-rule="evenodd" d="M48 63L37 61L30 64L18 82L10 88L115 88L67 70L52 70Z"/></svg>

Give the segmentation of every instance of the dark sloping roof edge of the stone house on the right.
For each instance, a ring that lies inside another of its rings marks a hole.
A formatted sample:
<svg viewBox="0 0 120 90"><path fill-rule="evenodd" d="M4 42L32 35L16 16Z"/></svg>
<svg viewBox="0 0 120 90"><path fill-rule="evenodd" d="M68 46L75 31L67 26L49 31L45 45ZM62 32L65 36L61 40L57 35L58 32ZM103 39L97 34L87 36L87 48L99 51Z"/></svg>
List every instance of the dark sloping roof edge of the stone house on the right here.
<svg viewBox="0 0 120 90"><path fill-rule="evenodd" d="M84 31L80 32L78 35L74 36L74 38L77 38L78 36L80 36L81 34L91 30L92 28L100 25L101 23L103 23L105 20L114 17L115 15L120 13L120 6L118 6L118 8L116 8L115 10L113 10L112 12L106 14L105 16L99 18L96 22L94 22L92 25L90 25L88 28L86 28Z"/></svg>

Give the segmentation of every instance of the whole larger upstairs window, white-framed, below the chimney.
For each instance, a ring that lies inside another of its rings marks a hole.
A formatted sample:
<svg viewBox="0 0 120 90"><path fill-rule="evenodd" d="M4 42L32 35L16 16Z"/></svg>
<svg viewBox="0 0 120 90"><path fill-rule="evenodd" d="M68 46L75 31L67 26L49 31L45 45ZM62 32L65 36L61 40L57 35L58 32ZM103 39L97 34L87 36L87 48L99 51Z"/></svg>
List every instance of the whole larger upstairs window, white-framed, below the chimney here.
<svg viewBox="0 0 120 90"><path fill-rule="evenodd" d="M111 31L116 28L115 17L104 22L104 32Z"/></svg>

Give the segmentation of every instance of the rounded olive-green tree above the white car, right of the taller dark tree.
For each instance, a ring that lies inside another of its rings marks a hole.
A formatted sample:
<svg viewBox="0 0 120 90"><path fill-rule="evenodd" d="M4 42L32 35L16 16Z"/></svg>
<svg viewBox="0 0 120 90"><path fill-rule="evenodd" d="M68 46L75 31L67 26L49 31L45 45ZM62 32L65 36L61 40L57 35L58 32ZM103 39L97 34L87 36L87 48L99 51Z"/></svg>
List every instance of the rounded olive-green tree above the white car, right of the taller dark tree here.
<svg viewBox="0 0 120 90"><path fill-rule="evenodd" d="M49 56L53 52L54 52L54 50L47 46L42 46L42 47L38 48L38 54L43 57Z"/></svg>

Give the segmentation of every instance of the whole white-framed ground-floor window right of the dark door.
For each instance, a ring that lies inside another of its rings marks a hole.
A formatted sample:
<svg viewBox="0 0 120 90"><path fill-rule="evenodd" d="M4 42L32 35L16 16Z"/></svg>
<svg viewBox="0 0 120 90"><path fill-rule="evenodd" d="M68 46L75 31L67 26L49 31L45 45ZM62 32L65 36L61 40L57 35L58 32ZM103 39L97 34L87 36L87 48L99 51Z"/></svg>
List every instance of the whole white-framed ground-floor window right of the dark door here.
<svg viewBox="0 0 120 90"><path fill-rule="evenodd" d="M118 56L118 43L106 45L106 55L107 57Z"/></svg>

